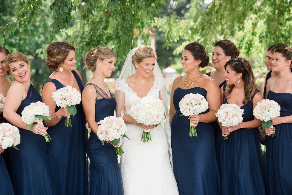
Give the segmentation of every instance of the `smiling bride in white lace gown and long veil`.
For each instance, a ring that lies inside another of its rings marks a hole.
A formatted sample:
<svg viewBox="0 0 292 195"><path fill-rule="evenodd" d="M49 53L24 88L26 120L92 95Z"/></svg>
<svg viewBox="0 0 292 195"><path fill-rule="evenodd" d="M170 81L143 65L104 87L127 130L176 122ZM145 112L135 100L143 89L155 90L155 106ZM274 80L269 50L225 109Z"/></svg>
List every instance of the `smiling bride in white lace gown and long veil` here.
<svg viewBox="0 0 292 195"><path fill-rule="evenodd" d="M115 99L117 116L127 124L122 148L121 173L124 194L178 194L170 159L170 125L164 78L156 62L156 53L148 46L132 49L119 76ZM130 117L131 105L142 97L152 96L163 101L166 108L165 128L137 123ZM125 112L125 114L124 114ZM143 129L150 129L152 141L143 143Z"/></svg>

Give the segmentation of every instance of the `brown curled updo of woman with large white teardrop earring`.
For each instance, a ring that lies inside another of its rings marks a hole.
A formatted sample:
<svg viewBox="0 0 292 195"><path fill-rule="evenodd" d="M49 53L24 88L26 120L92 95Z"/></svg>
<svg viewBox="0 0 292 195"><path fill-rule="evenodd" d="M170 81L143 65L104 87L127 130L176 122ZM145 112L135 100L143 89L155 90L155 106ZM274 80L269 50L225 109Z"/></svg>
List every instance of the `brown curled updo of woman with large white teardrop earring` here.
<svg viewBox="0 0 292 195"><path fill-rule="evenodd" d="M46 62L50 71L56 71L61 63L65 61L70 51L76 51L73 45L63 42L53 42L47 47Z"/></svg>

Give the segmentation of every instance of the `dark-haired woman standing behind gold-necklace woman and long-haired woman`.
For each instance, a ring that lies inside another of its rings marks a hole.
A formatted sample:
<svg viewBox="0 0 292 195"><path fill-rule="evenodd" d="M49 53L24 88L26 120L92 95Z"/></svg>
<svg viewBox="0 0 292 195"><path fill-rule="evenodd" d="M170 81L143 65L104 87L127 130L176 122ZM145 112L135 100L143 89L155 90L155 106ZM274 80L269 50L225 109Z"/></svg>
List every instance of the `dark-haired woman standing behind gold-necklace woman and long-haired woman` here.
<svg viewBox="0 0 292 195"><path fill-rule="evenodd" d="M214 45L214 49L212 52L212 65L215 68L215 71L208 72L206 75L214 78L217 85L221 89L223 85L226 84L226 78L224 77L225 69L224 65L232 58L237 58L240 54L238 48L232 41L223 39L217 41ZM215 131L215 143L217 141L219 125L216 121L212 122L212 126Z"/></svg>

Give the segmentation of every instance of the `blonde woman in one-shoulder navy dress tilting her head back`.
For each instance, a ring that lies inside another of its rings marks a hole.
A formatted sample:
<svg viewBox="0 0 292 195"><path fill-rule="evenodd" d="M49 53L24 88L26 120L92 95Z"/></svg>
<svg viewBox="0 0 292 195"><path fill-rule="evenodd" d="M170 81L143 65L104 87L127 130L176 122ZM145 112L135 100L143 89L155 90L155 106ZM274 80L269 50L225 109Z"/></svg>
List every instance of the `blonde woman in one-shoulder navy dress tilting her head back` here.
<svg viewBox="0 0 292 195"><path fill-rule="evenodd" d="M30 82L30 64L21 52L7 55L5 65L14 83L7 92L3 116L18 127L21 142L18 149L8 148L10 178L15 194L55 194L49 177L48 154L44 135L47 128L34 124L32 130L21 120L21 112L32 102L41 101Z"/></svg>

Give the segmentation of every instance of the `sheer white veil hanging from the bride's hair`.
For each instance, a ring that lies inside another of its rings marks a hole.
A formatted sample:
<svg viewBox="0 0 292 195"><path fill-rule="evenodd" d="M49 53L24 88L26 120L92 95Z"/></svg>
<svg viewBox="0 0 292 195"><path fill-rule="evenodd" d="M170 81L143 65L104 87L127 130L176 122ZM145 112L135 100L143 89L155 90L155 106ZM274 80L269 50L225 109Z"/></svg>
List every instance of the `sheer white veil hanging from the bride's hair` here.
<svg viewBox="0 0 292 195"><path fill-rule="evenodd" d="M126 83L128 83L128 79L130 76L132 76L133 74L136 73L136 69L134 67L134 65L132 64L132 56L134 54L134 52L136 51L136 49L138 49L138 47L135 47L134 49L132 49L128 55L127 58L125 60L124 66L122 68L122 72L118 78L117 83L119 83L120 81L122 81L123 79L126 79ZM169 151L169 158L170 158L170 163L171 166L173 166L173 160L172 160L172 151L171 151L171 137L170 137L170 120L169 120L169 114L168 114L168 102L167 102L167 92L166 92L166 86L165 86L165 82L164 82L164 78L162 75L162 72L158 66L157 61L155 61L155 67L151 73L151 75L153 75L157 81L161 81L162 83L159 83L161 85L160 88L160 96L161 96L161 100L164 104L165 107L165 117L166 117L166 122L165 122L165 126L164 126L164 132L166 134L167 137L167 142L168 142L168 151ZM122 90L116 90L115 91L115 100L117 101L117 107L116 107L116 115L117 117L120 117L122 113L125 112L125 94L122 92Z"/></svg>

